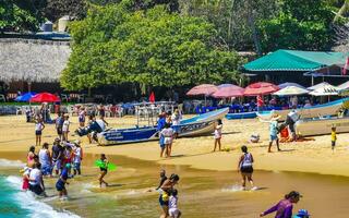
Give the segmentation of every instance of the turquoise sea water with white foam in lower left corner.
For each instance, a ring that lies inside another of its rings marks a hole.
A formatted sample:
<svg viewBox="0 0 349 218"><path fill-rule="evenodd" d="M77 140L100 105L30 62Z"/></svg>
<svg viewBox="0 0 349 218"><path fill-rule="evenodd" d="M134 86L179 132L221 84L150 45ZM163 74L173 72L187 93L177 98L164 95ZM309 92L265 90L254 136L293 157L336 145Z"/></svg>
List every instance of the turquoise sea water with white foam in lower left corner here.
<svg viewBox="0 0 349 218"><path fill-rule="evenodd" d="M36 198L31 192L23 192L22 178L19 175L20 161L0 159L0 217L79 217L67 210L56 210L50 205ZM16 173L16 174L15 174Z"/></svg>

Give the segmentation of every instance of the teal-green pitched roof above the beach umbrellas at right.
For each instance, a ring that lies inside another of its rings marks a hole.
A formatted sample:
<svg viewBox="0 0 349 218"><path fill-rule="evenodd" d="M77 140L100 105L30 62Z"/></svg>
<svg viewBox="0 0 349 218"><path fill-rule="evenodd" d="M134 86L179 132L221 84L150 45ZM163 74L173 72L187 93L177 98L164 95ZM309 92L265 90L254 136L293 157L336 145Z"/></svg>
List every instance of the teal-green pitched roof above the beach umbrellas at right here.
<svg viewBox="0 0 349 218"><path fill-rule="evenodd" d="M243 65L245 71L314 71L344 64L349 53L325 51L277 50Z"/></svg>

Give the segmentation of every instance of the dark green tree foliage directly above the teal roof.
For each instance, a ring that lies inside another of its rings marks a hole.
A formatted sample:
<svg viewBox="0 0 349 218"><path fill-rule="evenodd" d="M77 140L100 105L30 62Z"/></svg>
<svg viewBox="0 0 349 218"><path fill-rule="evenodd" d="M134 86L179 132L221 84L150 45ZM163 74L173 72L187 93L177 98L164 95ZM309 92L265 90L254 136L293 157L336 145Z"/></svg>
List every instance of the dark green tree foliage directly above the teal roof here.
<svg viewBox="0 0 349 218"><path fill-rule="evenodd" d="M329 49L334 36L333 10L325 0L282 0L278 15L258 22L263 50Z"/></svg>

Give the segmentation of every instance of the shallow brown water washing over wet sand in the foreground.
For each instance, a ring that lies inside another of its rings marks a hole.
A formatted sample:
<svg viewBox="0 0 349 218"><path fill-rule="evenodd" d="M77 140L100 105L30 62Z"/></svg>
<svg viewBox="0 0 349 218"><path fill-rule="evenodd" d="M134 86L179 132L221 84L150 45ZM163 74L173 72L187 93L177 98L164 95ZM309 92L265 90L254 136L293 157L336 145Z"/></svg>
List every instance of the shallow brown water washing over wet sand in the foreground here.
<svg viewBox="0 0 349 218"><path fill-rule="evenodd" d="M17 159L20 155L25 157L25 154L12 153L2 153L0 157ZM254 173L254 179L261 190L240 191L240 177L234 171L159 166L149 161L112 156L109 160L117 164L118 169L106 177L110 187L99 189L96 181L98 169L92 167L97 158L96 155L88 155L84 159L84 175L72 179L68 186L69 201L60 202L57 197L49 197L38 202L53 206L56 211L67 214L64 210L69 210L81 217L158 217L160 213L158 194L147 190L157 186L158 171L164 168L168 174L176 172L181 177L177 189L179 208L183 217L258 217L261 211L277 203L291 190L297 190L304 196L296 205L294 211L305 208L316 218L347 217L349 213L347 206L349 178L345 177L257 171ZM17 173L17 168L19 166L14 166L10 169L7 165L0 168L0 171L3 177L9 177ZM236 166L232 166L232 169L234 168ZM50 196L56 195L53 186L56 180L47 180L47 192ZM3 199L4 197L0 195L0 201ZM3 209L0 205L0 213Z"/></svg>

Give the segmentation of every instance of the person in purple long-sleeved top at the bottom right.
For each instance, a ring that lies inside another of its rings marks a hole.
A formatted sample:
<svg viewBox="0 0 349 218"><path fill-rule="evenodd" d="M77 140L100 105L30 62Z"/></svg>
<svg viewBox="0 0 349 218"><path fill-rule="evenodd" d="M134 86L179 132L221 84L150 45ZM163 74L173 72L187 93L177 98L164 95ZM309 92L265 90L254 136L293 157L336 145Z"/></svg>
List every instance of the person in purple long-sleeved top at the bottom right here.
<svg viewBox="0 0 349 218"><path fill-rule="evenodd" d="M292 218L293 204L297 204L300 197L302 197L302 195L299 192L292 191L285 195L285 198L279 203L261 213L260 217L264 217L276 211L275 218Z"/></svg>

